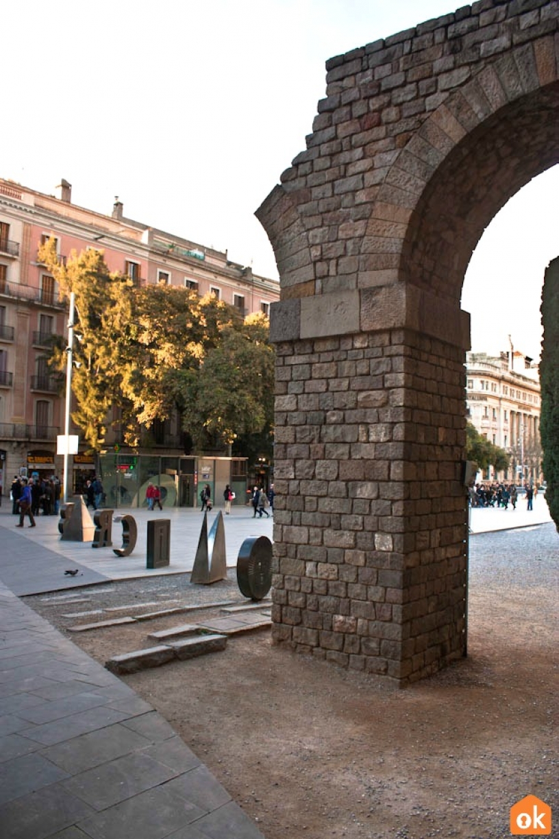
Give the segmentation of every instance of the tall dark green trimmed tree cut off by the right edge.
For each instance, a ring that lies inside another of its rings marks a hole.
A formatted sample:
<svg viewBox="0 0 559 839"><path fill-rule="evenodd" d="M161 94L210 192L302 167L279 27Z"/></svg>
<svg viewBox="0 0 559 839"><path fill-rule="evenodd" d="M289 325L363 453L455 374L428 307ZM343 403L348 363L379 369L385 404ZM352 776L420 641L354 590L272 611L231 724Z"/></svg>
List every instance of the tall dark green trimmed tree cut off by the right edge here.
<svg viewBox="0 0 559 839"><path fill-rule="evenodd" d="M559 258L546 270L541 295L540 435L546 500L559 531Z"/></svg>

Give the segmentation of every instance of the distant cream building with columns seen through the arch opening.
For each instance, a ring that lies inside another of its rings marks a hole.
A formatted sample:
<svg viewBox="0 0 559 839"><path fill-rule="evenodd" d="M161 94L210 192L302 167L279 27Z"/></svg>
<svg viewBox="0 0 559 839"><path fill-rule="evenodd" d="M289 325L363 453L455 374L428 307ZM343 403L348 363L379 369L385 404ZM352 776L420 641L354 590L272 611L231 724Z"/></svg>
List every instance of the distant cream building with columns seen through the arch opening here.
<svg viewBox="0 0 559 839"><path fill-rule="evenodd" d="M468 421L489 442L510 455L506 475L484 478L541 481L540 378L537 364L515 351L490 356L468 352L466 357Z"/></svg>

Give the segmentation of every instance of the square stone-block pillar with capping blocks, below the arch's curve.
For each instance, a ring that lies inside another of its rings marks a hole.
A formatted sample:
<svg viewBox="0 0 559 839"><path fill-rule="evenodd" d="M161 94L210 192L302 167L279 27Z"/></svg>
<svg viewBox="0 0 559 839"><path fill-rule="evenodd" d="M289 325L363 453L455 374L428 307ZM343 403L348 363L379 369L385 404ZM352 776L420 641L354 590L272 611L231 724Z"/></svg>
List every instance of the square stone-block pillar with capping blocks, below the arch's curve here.
<svg viewBox="0 0 559 839"><path fill-rule="evenodd" d="M465 651L469 332L417 289L370 290L272 305L272 638L404 684Z"/></svg>

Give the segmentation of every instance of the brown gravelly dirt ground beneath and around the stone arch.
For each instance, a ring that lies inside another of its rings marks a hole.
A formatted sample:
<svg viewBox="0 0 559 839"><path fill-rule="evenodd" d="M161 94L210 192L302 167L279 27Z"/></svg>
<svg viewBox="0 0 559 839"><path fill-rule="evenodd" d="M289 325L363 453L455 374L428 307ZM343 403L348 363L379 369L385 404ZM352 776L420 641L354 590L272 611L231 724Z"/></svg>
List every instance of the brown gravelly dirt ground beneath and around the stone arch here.
<svg viewBox="0 0 559 839"><path fill-rule="evenodd" d="M224 652L123 678L266 839L501 839L510 836L510 806L525 795L559 812L556 564L536 563L526 577L521 563L505 560L494 561L491 574L480 566L470 582L468 657L405 690L272 646L269 630L230 638ZM178 582L158 578L157 597L166 597L165 586L168 597L176 594ZM96 586L95 607L114 601L115 591L130 602L130 585L113 583L106 595ZM232 591L230 583L211 589L214 600ZM67 606L26 602L68 627ZM152 645L148 632L210 613L70 638L104 664Z"/></svg>

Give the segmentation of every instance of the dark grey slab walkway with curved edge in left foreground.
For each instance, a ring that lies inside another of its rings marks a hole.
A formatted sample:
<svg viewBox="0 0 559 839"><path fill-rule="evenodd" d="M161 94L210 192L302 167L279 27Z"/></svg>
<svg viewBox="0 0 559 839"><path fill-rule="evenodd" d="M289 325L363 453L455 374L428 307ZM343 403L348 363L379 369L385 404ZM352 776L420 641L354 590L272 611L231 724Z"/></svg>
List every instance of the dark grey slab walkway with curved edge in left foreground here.
<svg viewBox="0 0 559 839"><path fill-rule="evenodd" d="M1 584L0 654L0 836L263 839L148 702Z"/></svg>

